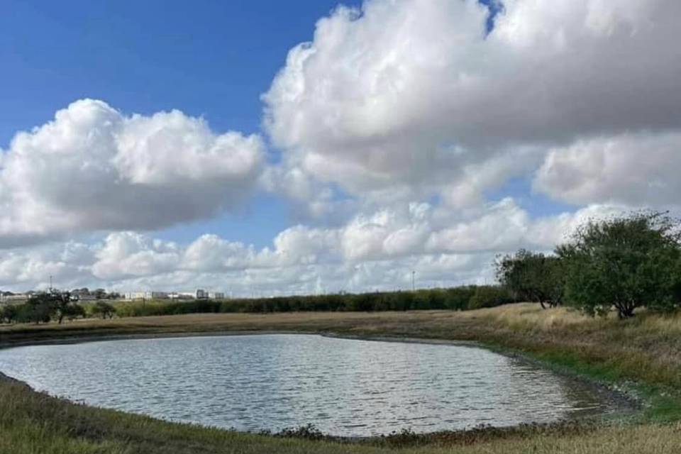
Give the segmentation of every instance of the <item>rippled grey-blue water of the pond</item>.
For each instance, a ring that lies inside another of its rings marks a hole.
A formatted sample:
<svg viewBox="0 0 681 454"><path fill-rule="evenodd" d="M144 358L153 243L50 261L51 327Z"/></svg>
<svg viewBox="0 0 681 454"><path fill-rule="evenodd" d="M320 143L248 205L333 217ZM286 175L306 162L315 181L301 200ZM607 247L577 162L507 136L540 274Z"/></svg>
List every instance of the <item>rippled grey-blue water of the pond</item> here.
<svg viewBox="0 0 681 454"><path fill-rule="evenodd" d="M213 336L0 350L0 371L93 406L243 431L371 436L607 413L594 387L460 345Z"/></svg>

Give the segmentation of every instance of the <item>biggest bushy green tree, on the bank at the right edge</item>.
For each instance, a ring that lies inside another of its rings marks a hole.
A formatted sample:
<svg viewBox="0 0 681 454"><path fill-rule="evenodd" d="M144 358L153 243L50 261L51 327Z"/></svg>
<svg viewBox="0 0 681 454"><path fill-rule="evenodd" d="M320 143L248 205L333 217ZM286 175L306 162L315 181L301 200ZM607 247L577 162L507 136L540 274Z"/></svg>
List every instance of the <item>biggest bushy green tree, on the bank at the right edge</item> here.
<svg viewBox="0 0 681 454"><path fill-rule="evenodd" d="M589 221L569 243L556 249L565 265L565 297L587 314L620 319L647 306L657 311L678 307L681 231L662 213L639 213Z"/></svg>

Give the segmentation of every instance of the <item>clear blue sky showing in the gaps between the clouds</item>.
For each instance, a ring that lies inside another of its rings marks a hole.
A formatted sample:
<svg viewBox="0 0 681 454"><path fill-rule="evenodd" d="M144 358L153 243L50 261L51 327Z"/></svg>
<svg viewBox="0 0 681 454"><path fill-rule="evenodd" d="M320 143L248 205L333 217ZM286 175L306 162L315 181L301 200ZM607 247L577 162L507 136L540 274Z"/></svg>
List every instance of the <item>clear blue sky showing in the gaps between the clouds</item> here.
<svg viewBox="0 0 681 454"><path fill-rule="evenodd" d="M258 133L260 94L288 50L311 40L314 23L338 6L319 0L4 4L9 14L0 16L0 55L11 70L0 72L1 148L16 131L45 123L82 98L103 99L128 114L180 109L203 116L215 131ZM270 153L277 159L275 148ZM516 184L494 198L527 195L527 189ZM285 201L263 194L237 213L157 236L187 242L217 233L264 247L297 221Z"/></svg>

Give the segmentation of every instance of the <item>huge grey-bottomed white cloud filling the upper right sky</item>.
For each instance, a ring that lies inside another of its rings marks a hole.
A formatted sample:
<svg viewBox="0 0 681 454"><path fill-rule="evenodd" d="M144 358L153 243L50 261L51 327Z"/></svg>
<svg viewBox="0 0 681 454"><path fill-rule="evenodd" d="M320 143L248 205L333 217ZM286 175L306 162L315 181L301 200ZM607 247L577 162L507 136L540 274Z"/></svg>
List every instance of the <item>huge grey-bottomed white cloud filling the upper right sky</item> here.
<svg viewBox="0 0 681 454"><path fill-rule="evenodd" d="M680 2L503 4L489 35L476 0L321 19L263 96L288 165L353 194L465 206L536 163L504 158L518 148L681 127ZM480 165L497 179L467 184Z"/></svg>

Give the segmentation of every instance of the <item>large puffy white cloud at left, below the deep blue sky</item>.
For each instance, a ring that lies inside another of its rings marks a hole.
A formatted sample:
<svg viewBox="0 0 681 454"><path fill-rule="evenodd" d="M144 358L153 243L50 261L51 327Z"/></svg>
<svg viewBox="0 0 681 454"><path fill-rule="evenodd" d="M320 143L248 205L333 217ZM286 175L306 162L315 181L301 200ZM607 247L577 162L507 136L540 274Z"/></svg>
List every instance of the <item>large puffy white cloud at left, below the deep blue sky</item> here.
<svg viewBox="0 0 681 454"><path fill-rule="evenodd" d="M257 135L216 135L179 111L76 101L0 154L0 246L212 216L253 189L263 153Z"/></svg>

